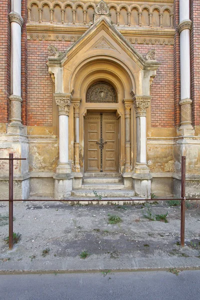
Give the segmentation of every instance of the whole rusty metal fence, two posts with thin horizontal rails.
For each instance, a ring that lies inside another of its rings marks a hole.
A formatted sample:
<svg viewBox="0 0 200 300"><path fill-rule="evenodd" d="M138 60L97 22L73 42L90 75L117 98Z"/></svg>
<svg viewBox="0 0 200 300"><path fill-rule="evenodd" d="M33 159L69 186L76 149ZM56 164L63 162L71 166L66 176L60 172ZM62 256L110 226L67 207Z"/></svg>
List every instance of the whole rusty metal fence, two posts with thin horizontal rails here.
<svg viewBox="0 0 200 300"><path fill-rule="evenodd" d="M80 202L89 201L88 199L13 199L13 160L26 158L13 158L13 153L9 153L9 158L0 158L0 160L9 160L9 199L2 199L0 201L9 201L9 250L13 248L13 201L67 201ZM118 198L117 201L122 199ZM149 199L142 199L143 201ZM156 198L156 201L166 201L169 198ZM181 157L181 198L173 198L173 200L181 200L180 210L180 246L184 247L184 232L185 232L185 200L200 200L199 198L185 198L185 156ZM92 201L92 200L91 200ZM113 200L101 199L100 201L113 202Z"/></svg>

